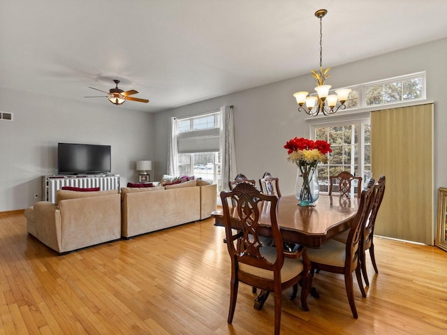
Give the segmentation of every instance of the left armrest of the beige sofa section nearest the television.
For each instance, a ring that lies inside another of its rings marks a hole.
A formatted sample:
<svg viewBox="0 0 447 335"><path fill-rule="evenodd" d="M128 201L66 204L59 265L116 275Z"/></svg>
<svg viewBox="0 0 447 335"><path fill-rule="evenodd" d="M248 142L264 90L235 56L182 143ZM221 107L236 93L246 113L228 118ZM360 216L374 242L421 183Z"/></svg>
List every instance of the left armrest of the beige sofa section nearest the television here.
<svg viewBox="0 0 447 335"><path fill-rule="evenodd" d="M34 237L46 246L61 252L61 212L52 202L34 204Z"/></svg>

